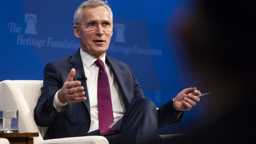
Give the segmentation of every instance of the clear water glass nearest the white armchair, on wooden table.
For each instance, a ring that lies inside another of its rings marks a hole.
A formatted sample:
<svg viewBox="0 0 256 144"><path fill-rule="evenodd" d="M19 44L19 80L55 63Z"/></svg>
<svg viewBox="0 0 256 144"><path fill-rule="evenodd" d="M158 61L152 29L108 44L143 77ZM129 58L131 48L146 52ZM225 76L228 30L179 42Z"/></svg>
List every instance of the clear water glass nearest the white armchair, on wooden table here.
<svg viewBox="0 0 256 144"><path fill-rule="evenodd" d="M4 133L19 133L18 121L19 121L18 110L3 111Z"/></svg>

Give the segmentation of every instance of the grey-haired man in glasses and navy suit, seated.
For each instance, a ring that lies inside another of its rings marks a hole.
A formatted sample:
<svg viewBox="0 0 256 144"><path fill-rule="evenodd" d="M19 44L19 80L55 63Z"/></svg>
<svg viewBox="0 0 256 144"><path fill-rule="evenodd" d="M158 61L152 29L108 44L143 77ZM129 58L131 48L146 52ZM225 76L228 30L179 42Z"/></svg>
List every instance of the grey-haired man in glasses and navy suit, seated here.
<svg viewBox="0 0 256 144"><path fill-rule="evenodd" d="M44 70L34 109L37 125L49 126L44 139L103 135L110 143L152 143L158 128L180 122L183 111L199 102L196 95L201 93L195 87L182 90L159 110L145 98L131 68L106 55L113 34L113 14L106 2L82 3L73 29L81 48ZM121 116L121 129L109 130Z"/></svg>

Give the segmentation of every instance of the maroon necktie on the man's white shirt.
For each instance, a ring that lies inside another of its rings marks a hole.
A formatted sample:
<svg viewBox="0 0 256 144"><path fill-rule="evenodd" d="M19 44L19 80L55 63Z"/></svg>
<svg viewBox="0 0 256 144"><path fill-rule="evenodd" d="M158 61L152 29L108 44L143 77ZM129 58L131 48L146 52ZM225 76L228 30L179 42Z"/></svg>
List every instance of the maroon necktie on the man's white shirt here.
<svg viewBox="0 0 256 144"><path fill-rule="evenodd" d="M99 67L97 82L97 98L99 111L99 133L101 135L115 134L115 131L108 128L114 122L112 101L109 87L109 78L102 60L94 62Z"/></svg>

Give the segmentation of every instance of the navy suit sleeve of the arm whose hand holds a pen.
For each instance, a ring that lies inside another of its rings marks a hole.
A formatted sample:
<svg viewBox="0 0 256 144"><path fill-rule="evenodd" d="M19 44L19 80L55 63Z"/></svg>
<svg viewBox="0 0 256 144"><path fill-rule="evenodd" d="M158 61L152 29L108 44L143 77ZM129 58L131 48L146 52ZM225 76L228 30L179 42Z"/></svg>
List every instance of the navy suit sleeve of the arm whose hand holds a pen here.
<svg viewBox="0 0 256 144"><path fill-rule="evenodd" d="M130 68L130 66L128 66ZM131 70L131 68L130 68ZM141 86L138 83L138 80L136 79L135 75L133 74L133 71L131 70L131 73L133 75L133 80L134 80L134 99L136 98L146 98L145 95L143 94L142 89L140 88ZM157 110L158 113L158 129L169 124L181 122L183 118L183 113L182 115L177 117L175 115L175 112L171 108L171 102L168 101L164 105L159 107L159 110Z"/></svg>

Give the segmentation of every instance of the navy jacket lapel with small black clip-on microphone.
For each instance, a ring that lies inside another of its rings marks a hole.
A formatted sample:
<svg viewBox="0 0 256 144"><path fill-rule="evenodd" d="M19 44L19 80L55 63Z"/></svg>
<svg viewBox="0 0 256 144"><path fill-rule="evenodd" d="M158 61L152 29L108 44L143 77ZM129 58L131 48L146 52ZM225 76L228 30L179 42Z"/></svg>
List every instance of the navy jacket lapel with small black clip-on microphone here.
<svg viewBox="0 0 256 144"><path fill-rule="evenodd" d="M86 79L80 79L79 78L80 75L85 75L85 71L83 69L83 62L82 62L81 55L80 55L80 48L72 56L72 58L70 60L70 67L71 67L71 69L72 68L75 69L75 77L74 77L74 79L76 81L81 81L81 86L83 86L85 88L85 96L86 96L87 99L85 101L83 101L83 103L85 103L85 106L86 106L89 114L91 115L91 112L90 112L90 101L89 101L89 95L88 95Z"/></svg>

